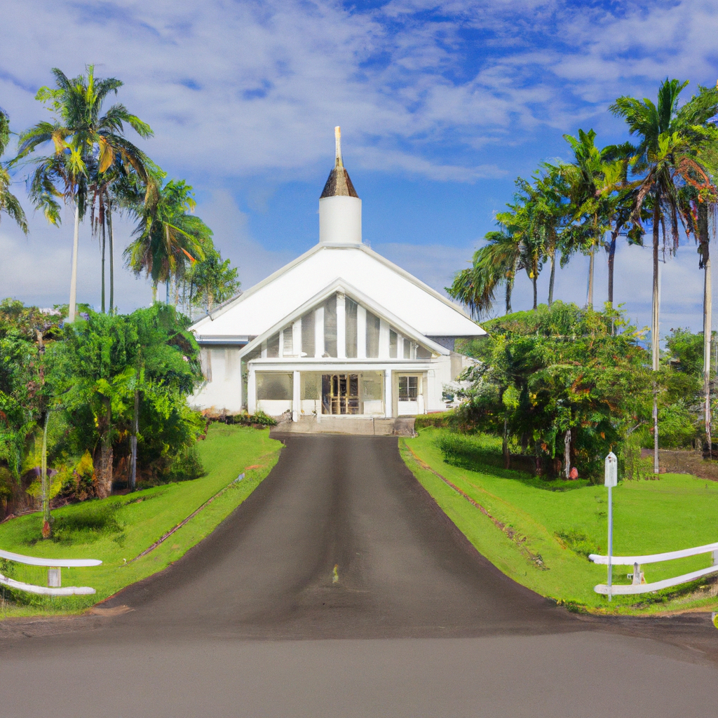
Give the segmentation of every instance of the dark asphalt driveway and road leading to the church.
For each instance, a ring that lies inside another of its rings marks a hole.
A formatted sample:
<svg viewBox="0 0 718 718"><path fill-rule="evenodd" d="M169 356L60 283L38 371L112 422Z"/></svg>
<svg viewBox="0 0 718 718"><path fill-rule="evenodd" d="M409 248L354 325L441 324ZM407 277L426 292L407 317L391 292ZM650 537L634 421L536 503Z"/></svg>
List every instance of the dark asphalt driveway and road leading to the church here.
<svg viewBox="0 0 718 718"><path fill-rule="evenodd" d="M286 444L117 615L0 625L0 717L718 714L706 617L582 620L477 554L396 439Z"/></svg>

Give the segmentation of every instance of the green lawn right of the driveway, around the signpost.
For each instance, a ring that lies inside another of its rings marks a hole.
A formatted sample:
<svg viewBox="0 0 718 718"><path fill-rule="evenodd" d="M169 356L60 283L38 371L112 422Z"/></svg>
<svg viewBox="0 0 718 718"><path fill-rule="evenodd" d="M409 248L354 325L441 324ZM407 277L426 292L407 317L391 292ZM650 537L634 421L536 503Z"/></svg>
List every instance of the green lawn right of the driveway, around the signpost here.
<svg viewBox="0 0 718 718"><path fill-rule="evenodd" d="M607 553L607 490L587 482L542 481L478 464L469 468L466 462L449 465L437 446L444 431L421 429L418 437L401 439L401 454L478 551L512 579L541 595L589 610L717 610L718 600L707 580L658 594L614 597L609 604L593 591L595 584L606 582L606 567L585 557ZM490 516L426 466L457 485ZM613 497L615 555L652 554L718 541L717 482L661 474L658 480L621 482ZM711 557L704 554L648 564L643 570L646 581L653 582L710 563ZM616 567L614 583L630 583L626 577L630 570Z"/></svg>

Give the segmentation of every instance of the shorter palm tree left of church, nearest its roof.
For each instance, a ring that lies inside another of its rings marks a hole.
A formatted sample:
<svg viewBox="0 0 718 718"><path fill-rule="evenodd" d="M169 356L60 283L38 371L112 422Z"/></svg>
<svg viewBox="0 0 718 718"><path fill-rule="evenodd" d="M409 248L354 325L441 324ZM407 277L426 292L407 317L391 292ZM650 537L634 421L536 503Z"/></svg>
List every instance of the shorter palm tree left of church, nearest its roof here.
<svg viewBox="0 0 718 718"><path fill-rule="evenodd" d="M212 230L192 215L195 200L192 187L184 180L171 180L164 187L151 180L149 200L139 215L134 230L136 239L126 248L126 264L139 276L144 272L152 281L152 299L157 300L157 284L181 279L190 264L205 258L204 244Z"/></svg>

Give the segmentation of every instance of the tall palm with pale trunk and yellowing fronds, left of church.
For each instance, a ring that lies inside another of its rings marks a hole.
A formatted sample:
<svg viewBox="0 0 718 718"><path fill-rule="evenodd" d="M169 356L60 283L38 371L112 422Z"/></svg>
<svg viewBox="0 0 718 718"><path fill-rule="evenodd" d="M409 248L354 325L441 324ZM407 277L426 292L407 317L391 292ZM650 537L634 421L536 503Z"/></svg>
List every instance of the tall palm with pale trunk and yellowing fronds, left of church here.
<svg viewBox="0 0 718 718"><path fill-rule="evenodd" d="M55 121L42 121L25 131L20 136L19 152L13 160L19 162L40 146L52 142L52 154L34 159L30 196L35 207L42 209L47 220L55 225L60 224L57 198L75 206L70 322L75 320L80 217L85 215L88 197L93 186L101 183L101 176L113 164L121 163L134 169L140 177L146 177L146 157L123 136L124 123L141 137L152 134L149 125L119 103L103 114L107 95L117 94L123 83L116 78L95 78L93 65L88 65L86 70L87 76L78 75L70 80L57 67L52 69L56 88L41 88L36 97L50 103Z"/></svg>

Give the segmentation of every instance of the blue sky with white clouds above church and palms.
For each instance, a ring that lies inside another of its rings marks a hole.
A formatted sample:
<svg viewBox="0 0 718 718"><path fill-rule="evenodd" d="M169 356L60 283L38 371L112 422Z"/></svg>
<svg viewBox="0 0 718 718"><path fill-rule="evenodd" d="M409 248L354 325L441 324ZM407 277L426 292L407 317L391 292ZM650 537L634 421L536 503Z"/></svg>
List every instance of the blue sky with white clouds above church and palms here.
<svg viewBox="0 0 718 718"><path fill-rule="evenodd" d="M317 242L340 125L365 241L441 290L493 228L513 180L568 159L563 133L625 139L607 112L617 96L655 97L667 76L691 80L686 98L713 85L717 16L701 0L24 0L3 9L0 106L19 131L43 116L34 94L51 67L74 76L94 63L123 80L118 100L154 129L144 149L195 187L197 214L245 288ZM24 197L22 172L15 179ZM130 232L121 227L123 246ZM1 218L0 295L66 302L71 238L69 216L60 229L32 216L27 238ZM649 252L617 253L615 296L640 325ZM78 299L95 306L99 266L83 227ZM600 303L605 256L597 267ZM662 269L663 331L699 328L694 246ZM574 258L557 296L584 302L586 274ZM121 309L149 302L144 279L118 275ZM530 306L522 276L514 308Z"/></svg>

